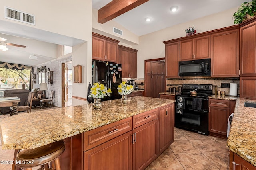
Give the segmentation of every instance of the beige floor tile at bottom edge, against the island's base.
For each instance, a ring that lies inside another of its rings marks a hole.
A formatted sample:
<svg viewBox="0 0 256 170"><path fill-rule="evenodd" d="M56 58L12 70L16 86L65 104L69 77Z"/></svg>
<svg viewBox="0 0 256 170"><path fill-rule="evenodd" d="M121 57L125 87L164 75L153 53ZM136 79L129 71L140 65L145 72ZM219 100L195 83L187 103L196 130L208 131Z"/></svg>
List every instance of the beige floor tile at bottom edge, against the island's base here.
<svg viewBox="0 0 256 170"><path fill-rule="evenodd" d="M174 154L161 154L150 164L150 170L184 170Z"/></svg>

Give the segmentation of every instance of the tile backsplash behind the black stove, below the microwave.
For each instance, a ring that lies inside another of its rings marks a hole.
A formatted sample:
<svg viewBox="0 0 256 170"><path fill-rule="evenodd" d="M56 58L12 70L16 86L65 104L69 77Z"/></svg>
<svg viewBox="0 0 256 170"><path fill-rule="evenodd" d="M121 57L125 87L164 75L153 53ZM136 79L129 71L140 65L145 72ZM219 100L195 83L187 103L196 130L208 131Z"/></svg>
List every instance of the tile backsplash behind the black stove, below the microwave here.
<svg viewBox="0 0 256 170"><path fill-rule="evenodd" d="M238 84L238 91L239 94L239 78L211 78L211 77L189 77L189 78L176 78L170 79L167 78L166 80L166 89L168 90L169 87L177 87L182 86L182 84L212 84L213 85L213 93L215 86L217 86L217 90L225 91L226 94L229 94L229 88L221 88L221 83L237 83Z"/></svg>

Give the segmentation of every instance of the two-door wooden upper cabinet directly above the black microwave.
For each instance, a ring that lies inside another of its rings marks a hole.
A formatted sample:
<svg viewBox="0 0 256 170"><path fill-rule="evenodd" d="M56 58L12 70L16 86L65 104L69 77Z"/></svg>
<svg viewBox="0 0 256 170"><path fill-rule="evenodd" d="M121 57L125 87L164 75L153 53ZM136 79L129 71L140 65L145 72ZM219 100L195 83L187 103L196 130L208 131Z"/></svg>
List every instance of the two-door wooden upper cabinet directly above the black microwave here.
<svg viewBox="0 0 256 170"><path fill-rule="evenodd" d="M210 35L206 35L180 41L180 61L211 58L210 39Z"/></svg>

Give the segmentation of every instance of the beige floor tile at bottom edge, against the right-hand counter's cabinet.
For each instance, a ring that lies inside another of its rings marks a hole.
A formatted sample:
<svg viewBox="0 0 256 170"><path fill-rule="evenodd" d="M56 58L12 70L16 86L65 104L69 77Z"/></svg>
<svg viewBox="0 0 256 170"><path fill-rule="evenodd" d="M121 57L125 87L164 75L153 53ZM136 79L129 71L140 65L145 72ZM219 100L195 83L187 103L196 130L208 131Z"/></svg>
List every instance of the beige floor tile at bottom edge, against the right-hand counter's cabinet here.
<svg viewBox="0 0 256 170"><path fill-rule="evenodd" d="M228 153L206 153L204 154L220 170L228 170Z"/></svg>

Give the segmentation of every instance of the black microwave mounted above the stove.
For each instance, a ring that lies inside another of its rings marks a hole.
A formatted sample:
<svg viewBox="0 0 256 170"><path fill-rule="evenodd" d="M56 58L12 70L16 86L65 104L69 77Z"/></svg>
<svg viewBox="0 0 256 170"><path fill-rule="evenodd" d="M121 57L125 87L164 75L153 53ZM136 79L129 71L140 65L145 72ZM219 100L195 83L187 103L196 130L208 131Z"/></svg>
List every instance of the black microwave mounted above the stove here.
<svg viewBox="0 0 256 170"><path fill-rule="evenodd" d="M211 76L211 59L179 61L179 76Z"/></svg>

